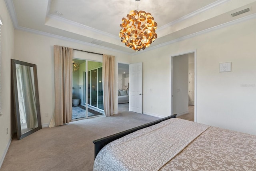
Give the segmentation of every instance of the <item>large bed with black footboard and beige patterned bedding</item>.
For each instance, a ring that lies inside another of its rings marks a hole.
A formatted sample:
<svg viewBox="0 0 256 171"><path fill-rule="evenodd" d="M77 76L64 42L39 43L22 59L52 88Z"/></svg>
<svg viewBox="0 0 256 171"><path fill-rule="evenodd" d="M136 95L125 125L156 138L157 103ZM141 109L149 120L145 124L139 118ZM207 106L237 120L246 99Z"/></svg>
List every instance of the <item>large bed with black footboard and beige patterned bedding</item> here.
<svg viewBox="0 0 256 171"><path fill-rule="evenodd" d="M94 171L256 170L256 136L172 115L93 141Z"/></svg>

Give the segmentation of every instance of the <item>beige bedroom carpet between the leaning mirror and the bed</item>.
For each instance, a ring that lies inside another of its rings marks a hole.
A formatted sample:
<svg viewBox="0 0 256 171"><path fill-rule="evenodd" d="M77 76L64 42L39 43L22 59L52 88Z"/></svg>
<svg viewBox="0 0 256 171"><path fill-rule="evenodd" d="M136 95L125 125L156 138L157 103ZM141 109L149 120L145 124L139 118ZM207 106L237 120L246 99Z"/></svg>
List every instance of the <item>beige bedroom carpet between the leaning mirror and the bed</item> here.
<svg viewBox="0 0 256 171"><path fill-rule="evenodd" d="M43 128L17 140L14 135L1 171L92 171L93 140L159 118L134 112L99 116Z"/></svg>

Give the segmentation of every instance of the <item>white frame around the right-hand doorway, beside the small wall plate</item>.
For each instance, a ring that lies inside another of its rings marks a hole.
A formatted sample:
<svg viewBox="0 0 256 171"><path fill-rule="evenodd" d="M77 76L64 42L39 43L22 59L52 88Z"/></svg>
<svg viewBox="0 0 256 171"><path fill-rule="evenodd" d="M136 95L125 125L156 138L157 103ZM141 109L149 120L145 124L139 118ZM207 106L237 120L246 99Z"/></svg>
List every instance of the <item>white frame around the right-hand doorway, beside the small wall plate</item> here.
<svg viewBox="0 0 256 171"><path fill-rule="evenodd" d="M195 66L195 77L194 77L194 86L195 86L195 105L194 105L194 121L196 122L197 121L197 118L196 118L196 111L197 111L197 86L196 86L196 84L197 84L197 74L196 74L196 71L197 71L197 67L196 67L196 50L191 50L191 51L187 51L187 52L183 52L183 53L178 53L178 54L173 54L173 55L171 55L171 64L170 64L170 76L171 76L171 79L170 79L170 84L171 84L171 91L170 91L170 101L171 101L171 105L170 105L170 111L171 111L171 113L170 113L170 115L172 115L172 69L173 69L173 66L172 66L172 64L173 64L173 62L172 62L172 60L173 60L173 57L175 57L175 56L181 56L181 55L185 55L185 54L191 54L191 53L194 53L194 66Z"/></svg>

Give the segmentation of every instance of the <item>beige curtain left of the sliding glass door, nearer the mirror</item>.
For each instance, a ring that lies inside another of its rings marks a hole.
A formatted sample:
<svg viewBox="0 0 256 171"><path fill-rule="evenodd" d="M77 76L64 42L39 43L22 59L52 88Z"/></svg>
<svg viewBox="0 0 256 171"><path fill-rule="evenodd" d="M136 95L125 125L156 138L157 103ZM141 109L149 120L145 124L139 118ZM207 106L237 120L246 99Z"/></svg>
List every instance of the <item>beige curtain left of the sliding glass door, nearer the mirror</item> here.
<svg viewBox="0 0 256 171"><path fill-rule="evenodd" d="M55 125L72 119L72 58L73 49L54 45Z"/></svg>

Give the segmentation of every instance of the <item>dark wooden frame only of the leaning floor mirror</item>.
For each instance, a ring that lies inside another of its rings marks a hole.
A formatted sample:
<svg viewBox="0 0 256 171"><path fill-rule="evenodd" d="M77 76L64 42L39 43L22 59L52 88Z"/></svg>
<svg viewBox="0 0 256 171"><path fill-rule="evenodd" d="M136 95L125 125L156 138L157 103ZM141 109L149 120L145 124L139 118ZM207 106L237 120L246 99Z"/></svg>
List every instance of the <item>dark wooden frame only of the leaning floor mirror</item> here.
<svg viewBox="0 0 256 171"><path fill-rule="evenodd" d="M33 75L34 75L34 96L35 96L35 102L36 102L36 106L35 106L36 113L35 114L37 116L38 127L30 129L29 131L26 131L25 133L22 133L21 124L20 124L20 108L19 108L16 64L32 67ZM36 64L30 64L27 62L22 62L22 61L11 59L11 74L12 74L12 89L13 89L13 95L14 95L14 114L16 117L16 126L17 126L17 138L18 138L18 140L20 140L20 139L38 131L39 129L42 129Z"/></svg>

